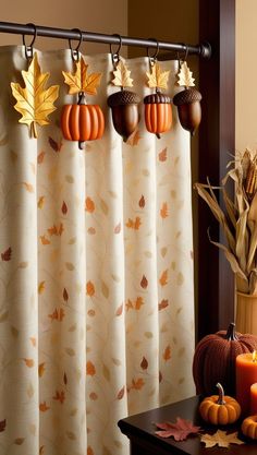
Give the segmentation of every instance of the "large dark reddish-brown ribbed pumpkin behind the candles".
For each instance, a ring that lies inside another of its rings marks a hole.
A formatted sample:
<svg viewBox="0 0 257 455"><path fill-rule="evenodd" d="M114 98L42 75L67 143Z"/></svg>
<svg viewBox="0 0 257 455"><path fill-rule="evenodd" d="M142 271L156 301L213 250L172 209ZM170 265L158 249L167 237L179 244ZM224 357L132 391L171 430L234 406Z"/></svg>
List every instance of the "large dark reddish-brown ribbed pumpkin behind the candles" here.
<svg viewBox="0 0 257 455"><path fill-rule="evenodd" d="M254 350L257 350L257 336L236 333L234 323L227 332L205 336L196 346L193 360L196 393L211 395L220 382L228 395L235 395L235 358Z"/></svg>

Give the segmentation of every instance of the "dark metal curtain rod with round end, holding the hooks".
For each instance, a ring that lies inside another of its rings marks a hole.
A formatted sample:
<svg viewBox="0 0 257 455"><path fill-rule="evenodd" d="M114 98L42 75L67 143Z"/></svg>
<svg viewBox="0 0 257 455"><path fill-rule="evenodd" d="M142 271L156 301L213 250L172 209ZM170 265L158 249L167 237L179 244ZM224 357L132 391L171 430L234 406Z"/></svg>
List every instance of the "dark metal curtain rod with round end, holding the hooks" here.
<svg viewBox="0 0 257 455"><path fill-rule="evenodd" d="M45 36L51 38L61 38L61 39L79 39L81 34L78 31L69 29L69 28L56 28L56 27L46 27L41 25L35 25L37 31L37 36ZM0 22L0 33L11 33L11 34L21 34L21 35L34 35L35 28L33 24L15 24L11 22ZM83 41L94 41L94 43L103 43L110 45L119 45L120 37L119 35L106 35L101 33L93 32L83 32L82 40ZM174 52L186 52L188 55L196 55L203 58L210 58L211 47L209 43L203 43L196 46L185 45L180 43L166 43L158 41L155 38L132 38L128 36L121 36L122 45L124 46L137 46L137 47L157 47L159 49L169 50Z"/></svg>

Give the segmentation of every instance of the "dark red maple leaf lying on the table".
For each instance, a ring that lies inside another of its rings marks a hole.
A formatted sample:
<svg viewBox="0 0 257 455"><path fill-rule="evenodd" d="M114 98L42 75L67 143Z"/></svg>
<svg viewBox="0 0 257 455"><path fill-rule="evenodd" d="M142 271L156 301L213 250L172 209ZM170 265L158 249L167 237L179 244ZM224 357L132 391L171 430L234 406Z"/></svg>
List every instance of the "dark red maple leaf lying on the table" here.
<svg viewBox="0 0 257 455"><path fill-rule="evenodd" d="M189 434L196 434L200 431L200 427L196 427L189 420L176 417L176 423L162 422L156 423L161 431L156 431L156 434L161 438L173 436L175 441L184 441Z"/></svg>

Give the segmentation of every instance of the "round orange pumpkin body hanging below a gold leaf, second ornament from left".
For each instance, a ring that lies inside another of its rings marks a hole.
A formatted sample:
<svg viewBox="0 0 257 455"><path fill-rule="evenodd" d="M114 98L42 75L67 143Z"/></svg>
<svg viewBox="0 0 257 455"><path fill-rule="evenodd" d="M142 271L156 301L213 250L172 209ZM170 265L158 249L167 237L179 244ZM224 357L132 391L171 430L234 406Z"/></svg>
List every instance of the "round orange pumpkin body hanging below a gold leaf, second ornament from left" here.
<svg viewBox="0 0 257 455"><path fill-rule="evenodd" d="M94 141L105 131L105 118L98 105L65 105L62 108L61 128L69 141Z"/></svg>

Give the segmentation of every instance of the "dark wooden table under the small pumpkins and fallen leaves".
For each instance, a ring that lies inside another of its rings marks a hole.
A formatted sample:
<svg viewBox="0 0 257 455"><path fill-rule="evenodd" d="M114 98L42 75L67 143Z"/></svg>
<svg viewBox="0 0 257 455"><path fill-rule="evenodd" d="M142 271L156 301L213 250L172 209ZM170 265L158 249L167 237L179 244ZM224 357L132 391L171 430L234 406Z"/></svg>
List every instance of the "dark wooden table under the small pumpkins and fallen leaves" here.
<svg viewBox="0 0 257 455"><path fill-rule="evenodd" d="M217 427L207 427L198 415L199 397L152 409L147 412L127 417L119 421L122 433L131 440L131 455L156 453L158 455L257 455L257 441L253 442L238 433L246 444L231 444L229 448L205 448L198 435L192 435L186 441L175 442L173 438L162 439L155 434L155 422L175 422L176 417L191 420L194 424L204 427L204 432L215 433ZM237 431L240 424L221 428L230 432ZM133 448L134 447L134 448ZM137 447L137 448L136 448Z"/></svg>

